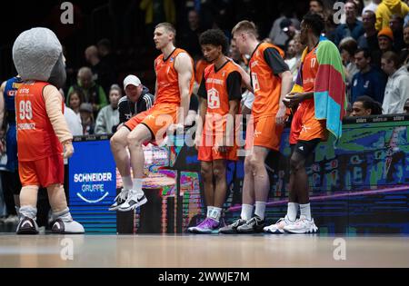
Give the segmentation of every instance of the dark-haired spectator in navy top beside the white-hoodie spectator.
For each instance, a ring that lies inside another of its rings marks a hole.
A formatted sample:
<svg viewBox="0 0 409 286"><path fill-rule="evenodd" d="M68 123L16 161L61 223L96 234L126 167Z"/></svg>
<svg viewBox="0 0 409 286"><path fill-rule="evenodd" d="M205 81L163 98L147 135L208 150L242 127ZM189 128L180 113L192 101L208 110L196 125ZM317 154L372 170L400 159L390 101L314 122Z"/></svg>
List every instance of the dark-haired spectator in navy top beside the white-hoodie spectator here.
<svg viewBox="0 0 409 286"><path fill-rule="evenodd" d="M355 52L355 65L359 73L354 75L351 87L351 102L360 96L367 95L375 102L384 102L386 77L384 73L371 65L371 54L368 50L359 49Z"/></svg>

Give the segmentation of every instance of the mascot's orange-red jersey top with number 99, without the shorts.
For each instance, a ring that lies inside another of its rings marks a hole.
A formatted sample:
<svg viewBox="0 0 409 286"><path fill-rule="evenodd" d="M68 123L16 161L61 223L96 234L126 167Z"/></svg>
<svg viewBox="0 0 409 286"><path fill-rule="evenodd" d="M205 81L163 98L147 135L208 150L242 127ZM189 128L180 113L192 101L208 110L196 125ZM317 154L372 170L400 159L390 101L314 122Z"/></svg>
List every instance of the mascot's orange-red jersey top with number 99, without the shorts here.
<svg viewBox="0 0 409 286"><path fill-rule="evenodd" d="M43 90L48 83L25 82L15 95L18 161L40 160L63 153L45 110ZM64 111L64 102L63 102Z"/></svg>

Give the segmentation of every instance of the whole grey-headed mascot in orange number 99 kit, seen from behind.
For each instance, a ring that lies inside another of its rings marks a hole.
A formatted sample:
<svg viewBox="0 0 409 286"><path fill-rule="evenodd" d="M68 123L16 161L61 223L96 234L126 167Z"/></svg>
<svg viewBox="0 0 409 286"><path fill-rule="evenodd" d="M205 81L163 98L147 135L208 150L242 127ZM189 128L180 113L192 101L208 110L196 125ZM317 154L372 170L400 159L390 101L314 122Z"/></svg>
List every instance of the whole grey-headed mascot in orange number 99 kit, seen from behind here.
<svg viewBox="0 0 409 286"><path fill-rule="evenodd" d="M37 194L47 188L52 232L84 233L69 212L64 192L64 158L74 153L58 89L65 84L65 58L56 35L33 28L15 40L13 61L23 84L15 96L20 192L17 234L37 234Z"/></svg>

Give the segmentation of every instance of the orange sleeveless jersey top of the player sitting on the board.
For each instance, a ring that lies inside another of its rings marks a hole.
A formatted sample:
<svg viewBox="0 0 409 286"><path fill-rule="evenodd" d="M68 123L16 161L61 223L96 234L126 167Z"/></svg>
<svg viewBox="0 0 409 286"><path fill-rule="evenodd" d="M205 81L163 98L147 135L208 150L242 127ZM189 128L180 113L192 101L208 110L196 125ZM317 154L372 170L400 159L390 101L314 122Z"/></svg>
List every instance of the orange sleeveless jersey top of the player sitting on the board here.
<svg viewBox="0 0 409 286"><path fill-rule="evenodd" d="M180 105L180 90L178 74L175 70L175 59L178 54L185 53L185 50L176 48L172 54L166 59L164 54L159 55L155 59L155 72L156 72L156 100L155 104L177 104ZM194 67L194 61L191 58L192 67ZM195 74L193 74L190 81L190 91L192 94L193 86L195 83Z"/></svg>

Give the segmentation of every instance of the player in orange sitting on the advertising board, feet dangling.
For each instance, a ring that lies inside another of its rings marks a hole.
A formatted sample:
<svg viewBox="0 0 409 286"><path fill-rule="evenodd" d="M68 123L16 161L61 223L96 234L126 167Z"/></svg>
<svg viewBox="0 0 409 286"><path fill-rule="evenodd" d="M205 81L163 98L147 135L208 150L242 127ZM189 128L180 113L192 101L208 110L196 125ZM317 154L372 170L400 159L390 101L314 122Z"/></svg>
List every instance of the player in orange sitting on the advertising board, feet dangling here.
<svg viewBox="0 0 409 286"><path fill-rule="evenodd" d="M144 151L142 145L160 141L172 124L183 126L189 111L190 94L195 82L193 59L184 50L175 48L173 25L156 25L154 41L162 54L155 59L155 104L139 113L121 127L111 139L111 150L121 173L124 188L110 210L126 212L147 202L142 191ZM126 147L129 148L129 157ZM131 178L130 167L134 172Z"/></svg>

